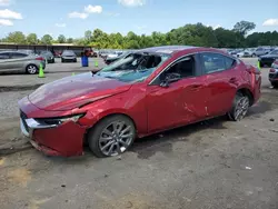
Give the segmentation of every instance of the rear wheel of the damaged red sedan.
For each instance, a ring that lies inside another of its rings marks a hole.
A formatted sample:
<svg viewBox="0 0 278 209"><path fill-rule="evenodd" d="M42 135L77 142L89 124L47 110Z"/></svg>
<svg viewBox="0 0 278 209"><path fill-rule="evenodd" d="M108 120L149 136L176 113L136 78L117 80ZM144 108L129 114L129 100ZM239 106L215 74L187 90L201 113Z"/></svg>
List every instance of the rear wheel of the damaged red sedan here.
<svg viewBox="0 0 278 209"><path fill-rule="evenodd" d="M240 121L247 115L249 106L250 99L248 96L237 92L232 102L232 108L228 112L229 119L232 121Z"/></svg>

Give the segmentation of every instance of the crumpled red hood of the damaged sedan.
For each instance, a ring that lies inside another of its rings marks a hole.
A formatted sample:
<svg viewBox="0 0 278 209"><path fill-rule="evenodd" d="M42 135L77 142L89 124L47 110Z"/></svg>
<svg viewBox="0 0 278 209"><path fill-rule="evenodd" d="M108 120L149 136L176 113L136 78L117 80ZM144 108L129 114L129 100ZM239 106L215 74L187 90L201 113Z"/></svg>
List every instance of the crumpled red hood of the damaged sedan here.
<svg viewBox="0 0 278 209"><path fill-rule="evenodd" d="M28 99L39 109L71 110L90 101L128 91L130 87L130 83L88 72L43 84L29 94Z"/></svg>

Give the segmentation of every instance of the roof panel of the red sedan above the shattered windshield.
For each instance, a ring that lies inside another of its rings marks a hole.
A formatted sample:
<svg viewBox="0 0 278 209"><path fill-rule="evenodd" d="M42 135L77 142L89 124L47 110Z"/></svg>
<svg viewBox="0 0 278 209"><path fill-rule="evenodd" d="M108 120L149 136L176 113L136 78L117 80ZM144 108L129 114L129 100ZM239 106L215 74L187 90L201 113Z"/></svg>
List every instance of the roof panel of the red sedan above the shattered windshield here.
<svg viewBox="0 0 278 209"><path fill-rule="evenodd" d="M153 52L153 53L175 53L178 51L182 51L186 49L195 49L198 47L192 47L192 46L163 46L163 47L151 47L151 48L146 48L138 50L139 52Z"/></svg>

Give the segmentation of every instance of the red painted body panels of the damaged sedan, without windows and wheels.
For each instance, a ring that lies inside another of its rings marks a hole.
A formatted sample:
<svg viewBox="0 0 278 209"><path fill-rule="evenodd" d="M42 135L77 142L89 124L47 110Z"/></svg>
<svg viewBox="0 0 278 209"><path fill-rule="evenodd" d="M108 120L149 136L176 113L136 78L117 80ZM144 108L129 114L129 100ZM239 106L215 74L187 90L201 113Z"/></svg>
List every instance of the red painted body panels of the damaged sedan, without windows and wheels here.
<svg viewBox="0 0 278 209"><path fill-rule="evenodd" d="M168 88L149 86L161 70L181 56L195 52L227 53L216 49L191 48L172 53L146 81L125 83L85 73L42 86L19 101L28 118L51 118L86 112L77 123L33 132L33 145L48 155L79 156L86 131L102 118L129 116L143 137L220 116L230 110L237 90L248 89L255 102L260 97L260 74L256 68L239 61L234 69L182 79ZM80 106L87 103L82 108Z"/></svg>

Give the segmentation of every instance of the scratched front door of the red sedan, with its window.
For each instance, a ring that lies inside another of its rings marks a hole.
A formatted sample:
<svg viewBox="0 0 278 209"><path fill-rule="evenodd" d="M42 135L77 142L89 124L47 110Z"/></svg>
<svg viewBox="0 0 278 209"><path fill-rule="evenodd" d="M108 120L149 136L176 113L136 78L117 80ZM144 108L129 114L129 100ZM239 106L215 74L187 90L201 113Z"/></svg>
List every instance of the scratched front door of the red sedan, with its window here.
<svg viewBox="0 0 278 209"><path fill-rule="evenodd" d="M169 129L206 117L205 82L196 56L186 56L166 68L147 88L148 131ZM165 84L169 74L180 79ZM162 84L161 84L162 83Z"/></svg>

